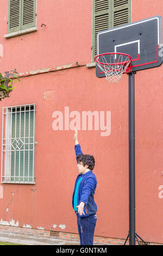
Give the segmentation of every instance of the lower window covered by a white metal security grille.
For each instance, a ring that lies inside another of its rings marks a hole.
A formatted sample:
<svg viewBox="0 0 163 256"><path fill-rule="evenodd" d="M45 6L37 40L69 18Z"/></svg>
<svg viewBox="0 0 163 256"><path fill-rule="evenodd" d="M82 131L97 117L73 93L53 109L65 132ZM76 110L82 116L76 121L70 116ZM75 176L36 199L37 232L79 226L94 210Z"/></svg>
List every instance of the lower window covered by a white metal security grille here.
<svg viewBox="0 0 163 256"><path fill-rule="evenodd" d="M3 107L1 182L34 184L35 104Z"/></svg>

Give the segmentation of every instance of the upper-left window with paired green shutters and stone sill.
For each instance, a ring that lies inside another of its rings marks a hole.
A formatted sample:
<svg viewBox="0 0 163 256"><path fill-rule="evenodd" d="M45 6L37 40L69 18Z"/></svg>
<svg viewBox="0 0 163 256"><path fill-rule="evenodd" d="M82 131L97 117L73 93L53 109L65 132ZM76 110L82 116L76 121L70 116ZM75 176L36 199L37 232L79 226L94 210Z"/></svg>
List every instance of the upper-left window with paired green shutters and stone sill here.
<svg viewBox="0 0 163 256"><path fill-rule="evenodd" d="M36 0L9 0L8 34L12 36L37 30ZM21 32L21 33L16 33ZM8 35L4 36L9 37Z"/></svg>

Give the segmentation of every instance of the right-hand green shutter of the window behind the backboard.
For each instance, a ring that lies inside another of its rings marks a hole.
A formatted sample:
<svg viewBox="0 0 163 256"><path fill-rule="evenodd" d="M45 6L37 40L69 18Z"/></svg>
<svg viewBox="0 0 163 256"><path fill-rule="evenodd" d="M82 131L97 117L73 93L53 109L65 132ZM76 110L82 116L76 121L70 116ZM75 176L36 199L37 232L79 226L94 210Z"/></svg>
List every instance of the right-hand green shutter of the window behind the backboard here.
<svg viewBox="0 0 163 256"><path fill-rule="evenodd" d="M131 22L131 0L112 1L112 27Z"/></svg>

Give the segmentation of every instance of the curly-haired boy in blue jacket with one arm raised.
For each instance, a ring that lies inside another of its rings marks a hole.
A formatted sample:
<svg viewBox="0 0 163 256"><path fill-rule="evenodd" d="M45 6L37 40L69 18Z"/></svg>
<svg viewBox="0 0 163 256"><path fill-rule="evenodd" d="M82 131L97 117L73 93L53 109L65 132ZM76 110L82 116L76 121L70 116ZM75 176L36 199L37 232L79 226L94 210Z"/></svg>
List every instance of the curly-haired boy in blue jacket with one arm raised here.
<svg viewBox="0 0 163 256"><path fill-rule="evenodd" d="M97 205L94 201L97 180L95 174L92 173L95 159L91 155L82 153L77 135L78 132L76 130L74 134L74 149L79 175L74 186L72 205L77 215L80 245L93 245L93 235L97 221Z"/></svg>

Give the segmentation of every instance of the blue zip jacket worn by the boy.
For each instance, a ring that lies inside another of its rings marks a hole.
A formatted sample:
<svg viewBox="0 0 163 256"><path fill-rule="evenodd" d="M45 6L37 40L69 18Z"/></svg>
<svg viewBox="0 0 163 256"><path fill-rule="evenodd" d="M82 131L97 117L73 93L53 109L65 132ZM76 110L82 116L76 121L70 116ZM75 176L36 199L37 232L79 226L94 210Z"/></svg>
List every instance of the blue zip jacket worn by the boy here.
<svg viewBox="0 0 163 256"><path fill-rule="evenodd" d="M74 147L75 152L76 152L76 157L78 154L83 154L82 150L80 148L80 144L75 145ZM76 185L78 180L82 176L82 181L79 184L78 188L78 205L80 202L84 202L84 213L85 215L79 215L79 217L86 217L91 214L95 214L97 211L97 205L94 200L94 194L97 186L97 180L95 174L92 173L92 170L89 170L89 172L85 174L79 174L77 176L75 185L74 185L74 191L73 191L73 196L72 196L72 207L73 207L73 199L74 199L74 192L76 190Z"/></svg>

